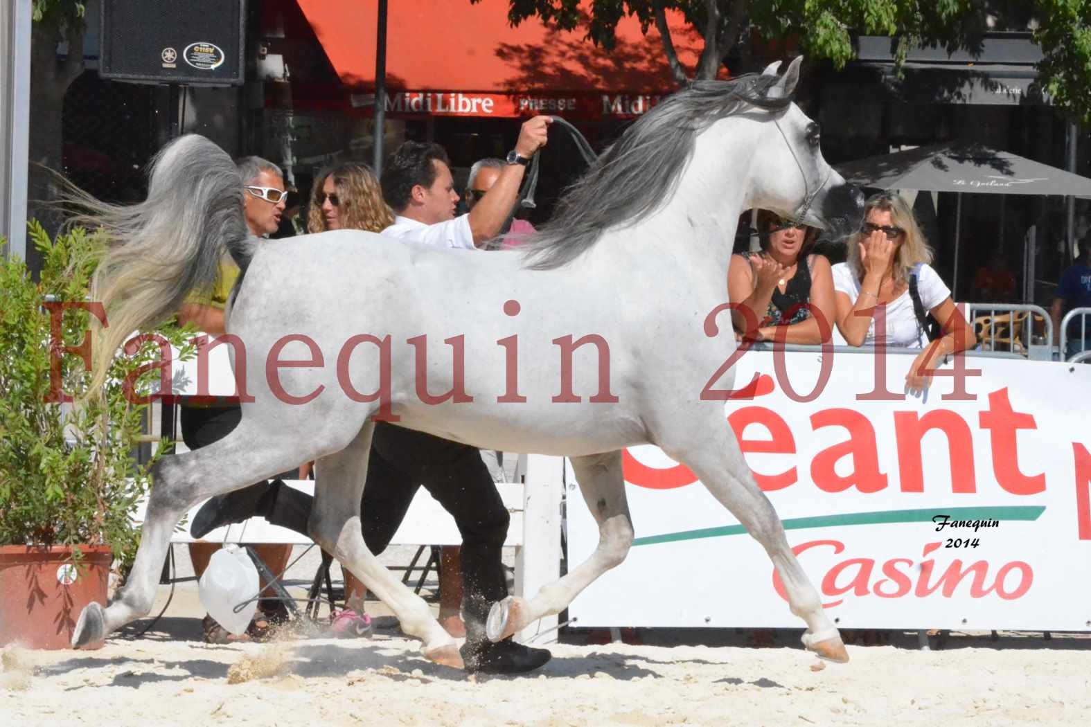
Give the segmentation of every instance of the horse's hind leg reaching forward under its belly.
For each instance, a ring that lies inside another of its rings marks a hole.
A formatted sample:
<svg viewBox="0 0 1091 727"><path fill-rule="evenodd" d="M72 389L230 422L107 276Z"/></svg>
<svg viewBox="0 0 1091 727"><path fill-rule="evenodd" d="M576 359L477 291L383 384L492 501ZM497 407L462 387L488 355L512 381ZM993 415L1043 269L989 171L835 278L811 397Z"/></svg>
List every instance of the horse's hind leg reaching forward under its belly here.
<svg viewBox="0 0 1091 727"><path fill-rule="evenodd" d="M311 537L391 607L403 631L424 642L421 653L425 657L463 668L458 645L432 617L428 604L380 564L363 542L360 500L374 428L368 422L348 447L315 462L319 478L309 523Z"/></svg>

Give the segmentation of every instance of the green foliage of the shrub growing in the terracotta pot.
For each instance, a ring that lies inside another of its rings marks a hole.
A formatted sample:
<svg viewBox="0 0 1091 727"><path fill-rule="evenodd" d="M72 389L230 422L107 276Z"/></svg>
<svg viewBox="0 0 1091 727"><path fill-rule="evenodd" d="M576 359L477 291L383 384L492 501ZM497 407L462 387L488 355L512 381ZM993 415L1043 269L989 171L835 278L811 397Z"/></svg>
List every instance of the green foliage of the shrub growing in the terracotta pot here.
<svg viewBox="0 0 1091 727"><path fill-rule="evenodd" d="M39 283L22 260L0 260L0 543L109 544L116 555L128 556L139 537L133 506L147 493L152 464L169 448L160 446L152 462L136 463L147 407L129 401L122 381L157 362L159 348L149 340L135 355L115 359L101 397L82 405L51 403L50 395L58 393L51 363L65 395L77 395L87 373L81 356L51 349L46 303L86 301L105 246L82 229L50 240L33 220L28 235L44 260ZM55 318L59 343L82 343L88 319L86 310L64 310ZM184 331L157 332L182 359L193 355ZM136 376L137 391L148 391L158 374L153 368Z"/></svg>

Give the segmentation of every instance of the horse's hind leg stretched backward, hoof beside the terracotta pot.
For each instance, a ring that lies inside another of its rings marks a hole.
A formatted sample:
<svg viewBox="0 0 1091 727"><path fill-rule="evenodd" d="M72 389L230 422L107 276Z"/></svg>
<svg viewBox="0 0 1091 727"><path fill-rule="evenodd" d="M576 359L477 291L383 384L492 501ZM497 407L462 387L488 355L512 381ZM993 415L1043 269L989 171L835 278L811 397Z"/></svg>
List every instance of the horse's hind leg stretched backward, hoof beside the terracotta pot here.
<svg viewBox="0 0 1091 727"><path fill-rule="evenodd" d="M303 437L259 432L244 419L215 444L159 460L152 474L136 560L125 585L106 608L92 603L83 609L72 632L72 646L79 649L101 641L111 631L146 616L155 601L170 535L185 511L207 497L253 484L307 461L313 452L302 448L303 441Z"/></svg>

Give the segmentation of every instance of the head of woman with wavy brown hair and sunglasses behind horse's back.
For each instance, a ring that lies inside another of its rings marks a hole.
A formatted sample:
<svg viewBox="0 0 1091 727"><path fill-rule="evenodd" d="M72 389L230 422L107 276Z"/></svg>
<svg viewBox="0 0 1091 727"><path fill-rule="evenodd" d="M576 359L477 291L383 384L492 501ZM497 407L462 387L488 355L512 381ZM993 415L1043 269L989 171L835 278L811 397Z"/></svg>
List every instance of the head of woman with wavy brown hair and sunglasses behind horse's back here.
<svg viewBox="0 0 1091 727"><path fill-rule="evenodd" d="M379 180L367 166L345 162L315 175L307 211L308 232L382 232L391 225L394 225L394 213L383 201Z"/></svg>

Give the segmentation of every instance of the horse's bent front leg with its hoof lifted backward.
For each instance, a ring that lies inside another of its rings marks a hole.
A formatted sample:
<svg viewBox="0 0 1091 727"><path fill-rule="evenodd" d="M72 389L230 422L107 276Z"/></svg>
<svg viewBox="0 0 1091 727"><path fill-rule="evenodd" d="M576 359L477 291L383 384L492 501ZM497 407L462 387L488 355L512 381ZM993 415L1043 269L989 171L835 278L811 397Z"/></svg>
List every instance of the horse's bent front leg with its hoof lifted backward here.
<svg viewBox="0 0 1091 727"><path fill-rule="evenodd" d="M599 575L621 564L633 544L633 522L625 500L621 452L574 457L579 492L599 523L599 544L590 557L554 583L542 586L529 601L508 596L494 604L488 634L505 639L540 618L560 614Z"/></svg>

